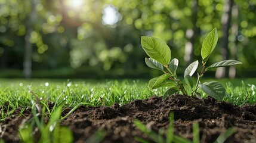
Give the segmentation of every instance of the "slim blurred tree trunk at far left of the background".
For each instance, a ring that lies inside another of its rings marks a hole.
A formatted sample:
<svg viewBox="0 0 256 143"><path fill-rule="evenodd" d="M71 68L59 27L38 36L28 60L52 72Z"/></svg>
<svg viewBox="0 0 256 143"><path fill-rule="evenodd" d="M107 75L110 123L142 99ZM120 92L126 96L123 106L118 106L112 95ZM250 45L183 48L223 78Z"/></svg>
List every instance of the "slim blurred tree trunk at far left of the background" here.
<svg viewBox="0 0 256 143"><path fill-rule="evenodd" d="M28 24L26 25L27 27L27 31L26 31L26 35L24 36L25 38L25 47L24 47L24 59L23 59L23 74L25 78L31 78L32 76L32 49L33 49L33 45L32 43L30 43L29 39L30 39L30 34L31 32L33 32L33 26L36 22L36 4L37 4L38 0L33 0L32 3L32 11L29 15L28 18Z"/></svg>

